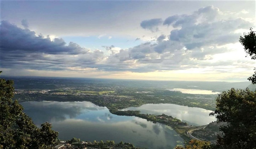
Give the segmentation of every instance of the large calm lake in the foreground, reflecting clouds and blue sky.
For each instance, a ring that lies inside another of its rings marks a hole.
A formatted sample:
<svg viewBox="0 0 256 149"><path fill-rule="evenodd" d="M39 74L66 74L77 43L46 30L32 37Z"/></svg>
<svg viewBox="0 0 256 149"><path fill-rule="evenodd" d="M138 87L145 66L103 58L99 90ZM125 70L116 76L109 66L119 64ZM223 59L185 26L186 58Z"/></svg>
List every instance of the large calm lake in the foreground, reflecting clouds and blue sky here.
<svg viewBox="0 0 256 149"><path fill-rule="evenodd" d="M23 102L24 112L37 126L46 121L59 132L59 139L114 140L148 149L173 149L183 139L160 123L138 117L112 115L107 108L90 102Z"/></svg>

